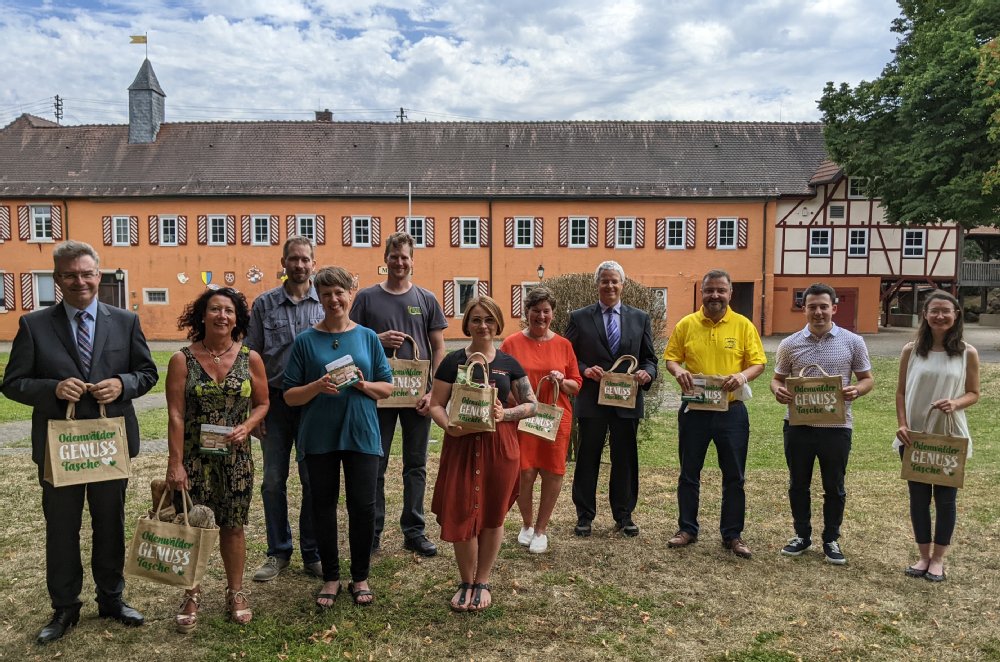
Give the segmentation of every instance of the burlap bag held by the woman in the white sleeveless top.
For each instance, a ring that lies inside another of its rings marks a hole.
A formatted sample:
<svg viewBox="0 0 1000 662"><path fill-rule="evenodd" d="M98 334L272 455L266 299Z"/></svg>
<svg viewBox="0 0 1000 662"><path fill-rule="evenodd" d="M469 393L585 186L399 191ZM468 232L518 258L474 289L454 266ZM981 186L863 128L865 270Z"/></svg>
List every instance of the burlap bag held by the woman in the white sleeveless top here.
<svg viewBox="0 0 1000 662"><path fill-rule="evenodd" d="M940 410L932 409L931 412ZM909 446L903 447L903 467L899 477L917 483L963 487L969 440L955 434L954 417L946 417L944 434L910 431ZM930 420L931 413L927 419ZM924 422L925 429L927 422Z"/></svg>

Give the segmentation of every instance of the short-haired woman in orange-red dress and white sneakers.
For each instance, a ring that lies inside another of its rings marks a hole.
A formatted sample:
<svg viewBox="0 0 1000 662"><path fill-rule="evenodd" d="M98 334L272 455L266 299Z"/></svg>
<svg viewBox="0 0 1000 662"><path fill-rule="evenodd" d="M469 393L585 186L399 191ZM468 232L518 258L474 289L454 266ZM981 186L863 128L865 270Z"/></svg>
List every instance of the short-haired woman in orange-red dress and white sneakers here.
<svg viewBox="0 0 1000 662"><path fill-rule="evenodd" d="M528 374L531 388L545 377L549 382L542 387L539 402L552 402L552 389L559 388L556 404L562 408L563 417L559 434L554 442L528 432L517 433L521 447L521 480L517 508L521 511L521 532L517 542L529 552L542 554L549 549L548 530L552 511L556 507L562 479L566 473L566 451L573 428L573 407L569 396L580 391L583 378L576 361L573 346L568 340L549 328L555 314L556 299L545 287L536 287L525 300L528 326L521 333L511 334L500 345L500 350L517 359ZM533 520L533 492L535 479L542 477L542 494L538 501L538 518Z"/></svg>

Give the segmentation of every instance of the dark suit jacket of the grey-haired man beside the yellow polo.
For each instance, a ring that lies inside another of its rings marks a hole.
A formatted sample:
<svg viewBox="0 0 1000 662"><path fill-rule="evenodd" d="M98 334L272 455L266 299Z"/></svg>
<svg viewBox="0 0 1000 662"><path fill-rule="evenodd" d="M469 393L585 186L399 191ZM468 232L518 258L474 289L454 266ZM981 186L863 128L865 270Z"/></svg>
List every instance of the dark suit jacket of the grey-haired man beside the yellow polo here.
<svg viewBox="0 0 1000 662"><path fill-rule="evenodd" d="M604 328L604 316L599 303L574 310L569 314L566 325L566 338L573 344L577 362L580 364L580 374L592 365L598 365L609 370L611 365L624 354L631 354L639 360L636 370L645 370L649 376L656 379L656 350L653 348L653 327L649 315L622 304L621 309L621 341L618 343L618 353L612 355L608 346L608 332ZM625 372L626 364L618 366L616 372ZM649 390L652 380L639 390L635 409L607 407L597 404L600 384L593 379L583 378L583 386L573 405L573 413L577 418L613 417L642 418L643 391Z"/></svg>

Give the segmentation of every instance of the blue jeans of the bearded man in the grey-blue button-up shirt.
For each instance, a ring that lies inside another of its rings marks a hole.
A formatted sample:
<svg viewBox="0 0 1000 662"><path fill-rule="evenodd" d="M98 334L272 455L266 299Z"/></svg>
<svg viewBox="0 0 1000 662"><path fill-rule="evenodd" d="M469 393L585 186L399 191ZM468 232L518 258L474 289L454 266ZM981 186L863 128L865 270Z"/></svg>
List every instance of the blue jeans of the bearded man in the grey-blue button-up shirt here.
<svg viewBox="0 0 1000 662"><path fill-rule="evenodd" d="M288 524L288 469L295 453L295 435L299 427L297 407L285 404L281 389L270 388L271 408L264 419L266 434L261 439L264 451L264 481L260 495L264 501L264 525L267 529L267 555L292 558L292 529ZM302 483L302 507L299 510L299 548L303 563L319 561L319 549L313 528L309 474L304 462L297 462Z"/></svg>

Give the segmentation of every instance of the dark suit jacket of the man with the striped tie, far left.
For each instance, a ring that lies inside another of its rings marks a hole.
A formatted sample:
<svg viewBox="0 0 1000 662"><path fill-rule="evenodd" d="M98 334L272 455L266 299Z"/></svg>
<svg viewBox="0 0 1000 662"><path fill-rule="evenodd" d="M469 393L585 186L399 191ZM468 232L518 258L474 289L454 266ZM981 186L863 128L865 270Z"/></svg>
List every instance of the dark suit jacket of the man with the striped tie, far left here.
<svg viewBox="0 0 1000 662"><path fill-rule="evenodd" d="M158 379L156 364L135 313L97 304L94 353L90 374L84 375L73 341L66 309L61 303L23 316L11 346L10 362L0 391L11 400L34 407L31 414L31 459L41 466L45 458L48 421L65 418L65 400L56 398L56 384L78 377L96 384L109 377L122 380L122 394L105 406L108 416L124 416L129 456L139 453L139 423L132 399L143 395ZM97 418L100 407L89 394L76 405L77 418Z"/></svg>

